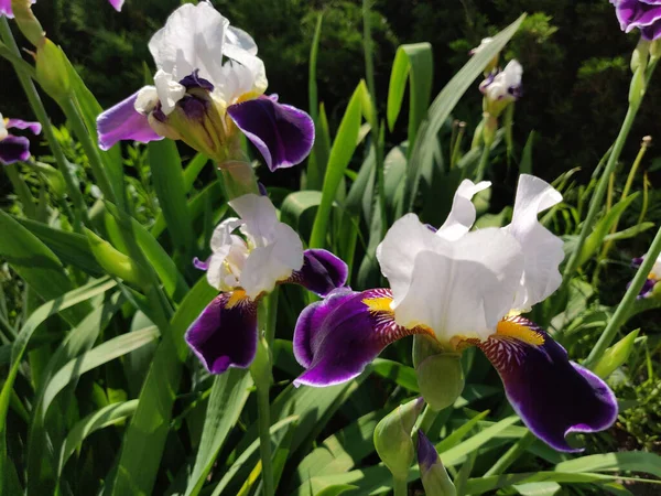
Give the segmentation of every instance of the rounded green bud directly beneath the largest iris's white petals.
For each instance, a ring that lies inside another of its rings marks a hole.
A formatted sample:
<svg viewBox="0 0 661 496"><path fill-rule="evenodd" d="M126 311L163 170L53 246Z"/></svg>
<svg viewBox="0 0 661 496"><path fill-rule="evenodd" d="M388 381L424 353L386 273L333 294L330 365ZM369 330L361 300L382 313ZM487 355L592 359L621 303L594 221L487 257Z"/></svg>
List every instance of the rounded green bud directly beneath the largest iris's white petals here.
<svg viewBox="0 0 661 496"><path fill-rule="evenodd" d="M459 354L444 352L434 339L416 335L413 365L420 392L432 409L443 410L462 395L464 369Z"/></svg>

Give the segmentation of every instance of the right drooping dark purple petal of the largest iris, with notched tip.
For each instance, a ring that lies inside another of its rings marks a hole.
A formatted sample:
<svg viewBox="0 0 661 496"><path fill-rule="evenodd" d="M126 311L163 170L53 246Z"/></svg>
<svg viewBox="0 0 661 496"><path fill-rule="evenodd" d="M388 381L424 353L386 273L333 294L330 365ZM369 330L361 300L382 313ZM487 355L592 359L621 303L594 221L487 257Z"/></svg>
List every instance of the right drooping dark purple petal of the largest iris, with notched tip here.
<svg viewBox="0 0 661 496"><path fill-rule="evenodd" d="M496 334L474 344L498 370L525 425L551 448L583 451L572 448L565 436L603 431L615 422L617 401L606 382L570 362L566 351L532 322L508 317Z"/></svg>

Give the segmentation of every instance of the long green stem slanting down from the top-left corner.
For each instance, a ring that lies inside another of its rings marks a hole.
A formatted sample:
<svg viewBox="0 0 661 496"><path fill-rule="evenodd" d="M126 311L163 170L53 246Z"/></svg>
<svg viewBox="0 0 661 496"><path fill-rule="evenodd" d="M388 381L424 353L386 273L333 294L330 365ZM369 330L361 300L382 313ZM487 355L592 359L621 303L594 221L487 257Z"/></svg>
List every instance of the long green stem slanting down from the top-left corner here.
<svg viewBox="0 0 661 496"><path fill-rule="evenodd" d="M8 50L15 56L20 58L21 52L17 42L11 33L11 29L9 23L7 22L7 18L0 17L0 37L7 45ZM21 60L22 61L22 60ZM48 142L48 147L53 152L53 157L55 158L55 162L57 163L57 169L62 173L64 177L64 182L66 183L66 187L71 195L72 202L74 202L74 230L80 233L82 224L87 223L87 208L85 206L85 202L83 201L83 194L78 188L76 181L74 180L73 173L69 171L68 162L64 157L64 152L62 151L62 147L59 142L55 138L55 133L53 132L53 128L51 126L51 120L48 119L48 115L46 114L46 109L36 91L36 87L31 79L30 73L21 65L14 64L14 68L17 71L17 76L19 77L19 82L23 87L23 91L25 91L25 96L28 97L28 101L30 101L30 106L32 107L32 111L36 119L42 125L42 130L44 132L44 137Z"/></svg>

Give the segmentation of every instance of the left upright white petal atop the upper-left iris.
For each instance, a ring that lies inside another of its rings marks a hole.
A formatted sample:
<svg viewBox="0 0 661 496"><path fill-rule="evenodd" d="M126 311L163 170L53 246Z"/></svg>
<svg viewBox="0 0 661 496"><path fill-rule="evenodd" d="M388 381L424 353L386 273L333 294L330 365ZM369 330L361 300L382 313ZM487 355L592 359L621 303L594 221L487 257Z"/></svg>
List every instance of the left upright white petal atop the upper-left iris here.
<svg viewBox="0 0 661 496"><path fill-rule="evenodd" d="M175 80L199 69L201 77L216 84L228 26L229 21L210 3L186 3L152 36L149 50L156 67L172 74Z"/></svg>

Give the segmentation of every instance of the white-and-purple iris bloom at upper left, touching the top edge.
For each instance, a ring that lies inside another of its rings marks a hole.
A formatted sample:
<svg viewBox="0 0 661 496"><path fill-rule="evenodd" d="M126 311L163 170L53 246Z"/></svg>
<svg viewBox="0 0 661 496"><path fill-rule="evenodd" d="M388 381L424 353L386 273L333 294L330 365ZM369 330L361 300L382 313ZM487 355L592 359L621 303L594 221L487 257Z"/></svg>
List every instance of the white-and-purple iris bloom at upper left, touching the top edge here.
<svg viewBox="0 0 661 496"><path fill-rule="evenodd" d="M216 160L232 157L242 132L270 170L302 162L314 142L307 114L266 96L266 69L252 37L210 3L186 3L149 42L156 64L145 86L101 114L99 145L183 139Z"/></svg>

